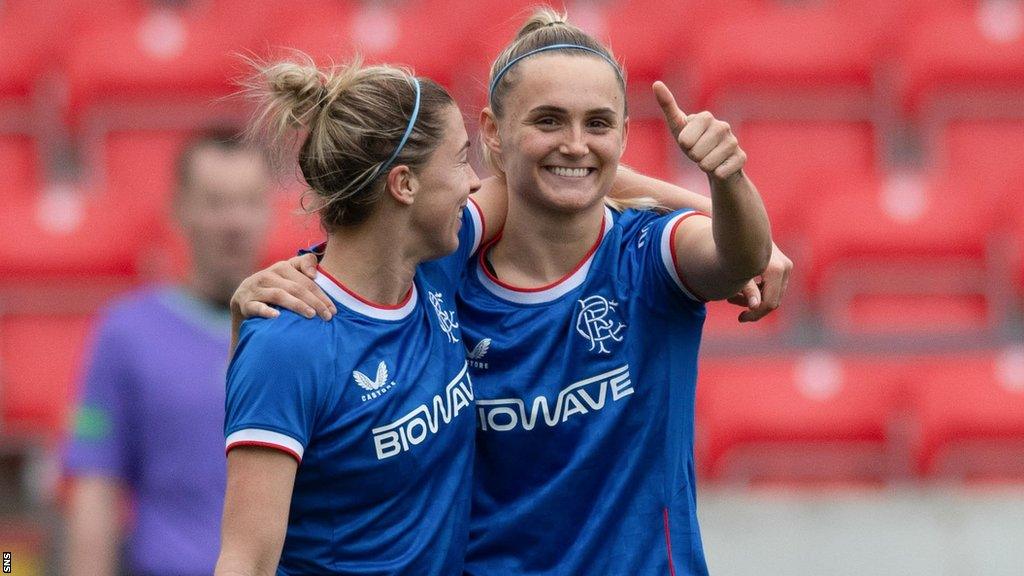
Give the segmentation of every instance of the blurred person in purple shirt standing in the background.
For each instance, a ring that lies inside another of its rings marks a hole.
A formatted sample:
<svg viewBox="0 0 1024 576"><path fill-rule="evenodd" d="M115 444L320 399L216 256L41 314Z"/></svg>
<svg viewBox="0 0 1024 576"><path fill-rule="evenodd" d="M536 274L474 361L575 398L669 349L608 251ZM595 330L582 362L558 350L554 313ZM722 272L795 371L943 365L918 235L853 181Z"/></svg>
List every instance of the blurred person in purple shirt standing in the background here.
<svg viewBox="0 0 1024 576"><path fill-rule="evenodd" d="M271 175L227 130L195 136L176 173L187 278L110 305L82 376L63 462L73 576L210 574L217 559L227 305L256 270Z"/></svg>

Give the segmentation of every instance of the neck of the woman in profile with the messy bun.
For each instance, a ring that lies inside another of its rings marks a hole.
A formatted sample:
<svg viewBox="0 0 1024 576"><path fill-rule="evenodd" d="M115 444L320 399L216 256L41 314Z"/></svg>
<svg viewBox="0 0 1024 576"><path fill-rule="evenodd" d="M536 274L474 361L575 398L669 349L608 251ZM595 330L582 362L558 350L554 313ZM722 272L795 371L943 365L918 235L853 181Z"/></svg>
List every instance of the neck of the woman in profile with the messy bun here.
<svg viewBox="0 0 1024 576"><path fill-rule="evenodd" d="M381 212L381 210L378 210ZM402 223L374 214L357 227L328 236L321 268L362 298L383 305L400 303L425 258L415 243L397 239Z"/></svg>

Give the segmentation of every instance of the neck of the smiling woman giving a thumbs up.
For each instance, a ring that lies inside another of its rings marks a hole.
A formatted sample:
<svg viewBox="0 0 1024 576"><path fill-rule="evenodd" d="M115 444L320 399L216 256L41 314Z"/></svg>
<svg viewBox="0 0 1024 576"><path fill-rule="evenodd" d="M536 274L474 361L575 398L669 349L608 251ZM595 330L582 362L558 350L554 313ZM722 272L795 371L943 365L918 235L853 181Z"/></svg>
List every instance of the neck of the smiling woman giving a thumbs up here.
<svg viewBox="0 0 1024 576"><path fill-rule="evenodd" d="M537 288L557 282L580 263L604 229L604 204L577 213L537 209L509 202L501 239L490 263L503 282Z"/></svg>

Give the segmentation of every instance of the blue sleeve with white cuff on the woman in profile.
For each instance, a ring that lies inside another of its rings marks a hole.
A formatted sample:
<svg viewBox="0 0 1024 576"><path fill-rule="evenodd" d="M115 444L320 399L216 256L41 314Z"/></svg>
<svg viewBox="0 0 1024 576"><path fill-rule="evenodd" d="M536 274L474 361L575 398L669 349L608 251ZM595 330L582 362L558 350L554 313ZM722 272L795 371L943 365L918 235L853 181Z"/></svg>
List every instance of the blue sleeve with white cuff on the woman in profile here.
<svg viewBox="0 0 1024 576"><path fill-rule="evenodd" d="M284 322L282 322L284 320ZM294 319L243 323L239 346L227 370L225 453L239 446L281 450L300 463L313 434L321 382L333 363L309 348L321 341Z"/></svg>

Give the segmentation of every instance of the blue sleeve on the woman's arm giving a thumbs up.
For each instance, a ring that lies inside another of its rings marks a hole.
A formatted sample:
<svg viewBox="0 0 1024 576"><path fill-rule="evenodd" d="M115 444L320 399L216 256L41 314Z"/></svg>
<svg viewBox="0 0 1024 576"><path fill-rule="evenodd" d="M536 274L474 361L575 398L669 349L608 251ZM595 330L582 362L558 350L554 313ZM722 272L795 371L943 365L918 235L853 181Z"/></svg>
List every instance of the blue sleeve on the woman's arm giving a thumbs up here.
<svg viewBox="0 0 1024 576"><path fill-rule="evenodd" d="M630 264L639 294L654 307L703 308L705 300L678 273L673 238L688 218L706 218L694 210L677 210L666 215L638 214L626 234L630 239Z"/></svg>

